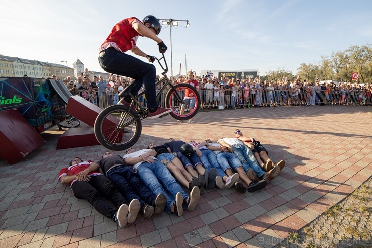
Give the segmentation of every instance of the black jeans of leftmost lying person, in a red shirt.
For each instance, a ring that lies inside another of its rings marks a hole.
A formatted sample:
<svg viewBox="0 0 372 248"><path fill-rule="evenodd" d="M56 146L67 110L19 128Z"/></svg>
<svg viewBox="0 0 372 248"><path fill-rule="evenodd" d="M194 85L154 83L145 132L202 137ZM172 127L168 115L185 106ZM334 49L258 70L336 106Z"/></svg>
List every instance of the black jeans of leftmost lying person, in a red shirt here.
<svg viewBox="0 0 372 248"><path fill-rule="evenodd" d="M99 213L112 220L115 220L117 209L108 204L102 196L109 198L117 208L124 203L129 205L111 181L103 175L91 176L88 182L76 181L71 185L71 189L76 198L87 200Z"/></svg>

